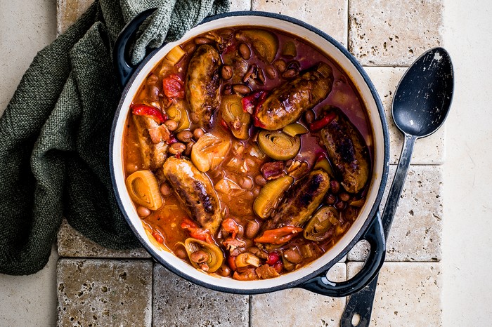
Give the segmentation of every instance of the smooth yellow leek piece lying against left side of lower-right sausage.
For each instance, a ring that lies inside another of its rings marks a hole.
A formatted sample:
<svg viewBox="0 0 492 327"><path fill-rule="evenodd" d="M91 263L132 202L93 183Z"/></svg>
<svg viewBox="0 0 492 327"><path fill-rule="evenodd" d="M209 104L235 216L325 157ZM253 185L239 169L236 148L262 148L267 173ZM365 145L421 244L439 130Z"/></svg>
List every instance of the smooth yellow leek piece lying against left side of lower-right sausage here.
<svg viewBox="0 0 492 327"><path fill-rule="evenodd" d="M254 200L254 213L263 219L270 217L271 213L273 213L277 208L278 203L283 198L283 194L285 194L285 191L289 189L293 182L294 178L287 175L267 182L266 185L261 188L257 199Z"/></svg>

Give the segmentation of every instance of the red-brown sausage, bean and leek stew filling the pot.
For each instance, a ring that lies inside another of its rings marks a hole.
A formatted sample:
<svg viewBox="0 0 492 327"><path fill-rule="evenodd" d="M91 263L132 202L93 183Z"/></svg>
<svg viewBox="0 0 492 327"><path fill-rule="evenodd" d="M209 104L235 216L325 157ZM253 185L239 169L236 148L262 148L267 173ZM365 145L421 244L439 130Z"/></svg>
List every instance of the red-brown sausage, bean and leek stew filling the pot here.
<svg viewBox="0 0 492 327"><path fill-rule="evenodd" d="M289 94L272 100L276 89ZM321 98L296 107L302 97ZM266 131L262 110L289 127ZM316 46L276 29L219 29L174 48L136 93L127 188L156 245L209 274L273 278L319 258L356 220L371 131L357 88Z"/></svg>

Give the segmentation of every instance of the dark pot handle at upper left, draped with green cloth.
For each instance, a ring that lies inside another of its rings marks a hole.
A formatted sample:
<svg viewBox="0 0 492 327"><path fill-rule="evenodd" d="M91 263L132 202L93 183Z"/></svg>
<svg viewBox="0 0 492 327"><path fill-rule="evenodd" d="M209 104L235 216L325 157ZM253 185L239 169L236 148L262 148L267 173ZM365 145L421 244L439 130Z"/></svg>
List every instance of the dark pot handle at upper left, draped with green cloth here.
<svg viewBox="0 0 492 327"><path fill-rule="evenodd" d="M146 11L142 11L135 16L125 27L122 32L119 32L118 38L115 42L115 48L112 50L112 61L115 65L115 70L121 86L127 85L127 82L135 72L136 66L131 65L129 50L133 43L138 27L143 23L148 16L152 15L156 8L150 8Z"/></svg>

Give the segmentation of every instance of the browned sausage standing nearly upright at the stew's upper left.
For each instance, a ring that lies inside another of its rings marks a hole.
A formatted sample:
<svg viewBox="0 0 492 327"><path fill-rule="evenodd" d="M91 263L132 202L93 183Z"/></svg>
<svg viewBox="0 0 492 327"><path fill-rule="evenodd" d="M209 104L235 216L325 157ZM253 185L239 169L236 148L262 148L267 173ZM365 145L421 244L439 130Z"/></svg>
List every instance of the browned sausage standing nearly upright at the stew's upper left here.
<svg viewBox="0 0 492 327"><path fill-rule="evenodd" d="M209 128L212 114L220 103L220 57L213 46L199 46L188 65L186 99L190 112L199 117L198 124Z"/></svg>

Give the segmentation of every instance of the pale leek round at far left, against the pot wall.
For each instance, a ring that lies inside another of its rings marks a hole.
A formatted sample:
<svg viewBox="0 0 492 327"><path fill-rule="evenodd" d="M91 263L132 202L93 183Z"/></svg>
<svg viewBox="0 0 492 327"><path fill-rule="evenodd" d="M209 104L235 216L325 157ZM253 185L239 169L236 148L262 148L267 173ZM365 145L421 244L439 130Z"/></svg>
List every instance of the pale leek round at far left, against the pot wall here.
<svg viewBox="0 0 492 327"><path fill-rule="evenodd" d="M159 183L152 171L136 171L128 176L126 184L131 199L139 205L150 210L157 210L162 206Z"/></svg>

